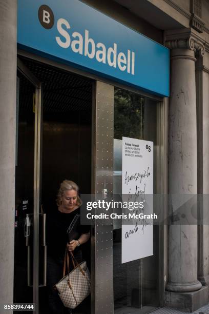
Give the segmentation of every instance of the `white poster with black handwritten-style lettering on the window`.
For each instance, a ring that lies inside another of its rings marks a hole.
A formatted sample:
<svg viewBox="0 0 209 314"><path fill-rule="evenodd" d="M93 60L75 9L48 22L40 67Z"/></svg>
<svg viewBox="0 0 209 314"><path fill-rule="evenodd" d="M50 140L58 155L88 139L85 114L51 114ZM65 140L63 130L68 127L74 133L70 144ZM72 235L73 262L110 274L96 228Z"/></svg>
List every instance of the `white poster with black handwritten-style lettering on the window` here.
<svg viewBox="0 0 209 314"><path fill-rule="evenodd" d="M153 213L145 195L153 194L153 142L122 138L122 194L145 200ZM122 263L153 255L153 225L135 221L122 225Z"/></svg>

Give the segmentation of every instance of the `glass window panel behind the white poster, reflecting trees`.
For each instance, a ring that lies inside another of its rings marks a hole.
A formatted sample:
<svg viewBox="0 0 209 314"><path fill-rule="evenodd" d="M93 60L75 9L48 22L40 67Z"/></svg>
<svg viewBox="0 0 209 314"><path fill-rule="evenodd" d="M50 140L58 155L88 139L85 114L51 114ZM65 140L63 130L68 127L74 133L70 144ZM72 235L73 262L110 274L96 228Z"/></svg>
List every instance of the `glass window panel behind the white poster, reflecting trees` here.
<svg viewBox="0 0 209 314"><path fill-rule="evenodd" d="M122 136L154 142L154 193L159 192L159 105L136 93L115 88L114 193L122 192ZM154 226L154 255L121 264L121 225L114 225L115 313L148 313L159 306L159 237ZM136 244L137 249L137 244Z"/></svg>

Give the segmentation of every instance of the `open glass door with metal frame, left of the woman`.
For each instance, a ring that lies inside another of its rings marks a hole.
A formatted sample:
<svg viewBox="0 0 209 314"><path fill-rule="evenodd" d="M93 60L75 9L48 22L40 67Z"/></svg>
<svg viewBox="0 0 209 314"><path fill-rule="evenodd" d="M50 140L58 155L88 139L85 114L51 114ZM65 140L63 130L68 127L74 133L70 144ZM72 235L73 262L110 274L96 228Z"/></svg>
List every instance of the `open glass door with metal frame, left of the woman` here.
<svg viewBox="0 0 209 314"><path fill-rule="evenodd" d="M41 84L17 59L14 303L38 312ZM44 222L43 217L40 219ZM46 284L44 263L40 267ZM42 265L40 263L40 265Z"/></svg>

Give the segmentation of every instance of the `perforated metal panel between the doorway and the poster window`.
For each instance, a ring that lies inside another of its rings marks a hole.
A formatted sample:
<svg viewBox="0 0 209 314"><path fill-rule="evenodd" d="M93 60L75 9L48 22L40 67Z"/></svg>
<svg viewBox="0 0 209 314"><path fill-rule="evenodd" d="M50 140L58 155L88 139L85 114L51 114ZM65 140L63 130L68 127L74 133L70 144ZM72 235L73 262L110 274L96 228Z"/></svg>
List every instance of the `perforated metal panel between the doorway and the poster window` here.
<svg viewBox="0 0 209 314"><path fill-rule="evenodd" d="M95 192L113 193L114 86L96 82ZM113 228L95 226L95 313L113 313Z"/></svg>

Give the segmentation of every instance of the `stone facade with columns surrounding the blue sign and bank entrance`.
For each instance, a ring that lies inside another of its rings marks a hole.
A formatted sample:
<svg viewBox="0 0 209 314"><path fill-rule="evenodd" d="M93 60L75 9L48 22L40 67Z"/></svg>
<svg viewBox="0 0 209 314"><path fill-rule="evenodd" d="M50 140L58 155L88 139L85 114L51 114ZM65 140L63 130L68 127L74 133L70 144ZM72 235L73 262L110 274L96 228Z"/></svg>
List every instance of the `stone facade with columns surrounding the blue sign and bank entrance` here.
<svg viewBox="0 0 209 314"><path fill-rule="evenodd" d="M208 194L209 1L83 2L170 49L170 97L164 100L169 115L168 129L164 132L164 147L168 147L168 151L164 150L163 192ZM3 200L0 262L2 269L7 269L2 271L0 281L3 304L13 300L14 204L11 200L15 192L16 2L0 0L0 16L0 42L4 42L0 50L0 119L4 128L0 132ZM6 230L11 230L9 237L5 237ZM209 228L207 225L173 225L164 230L164 303L196 310L209 301Z"/></svg>

